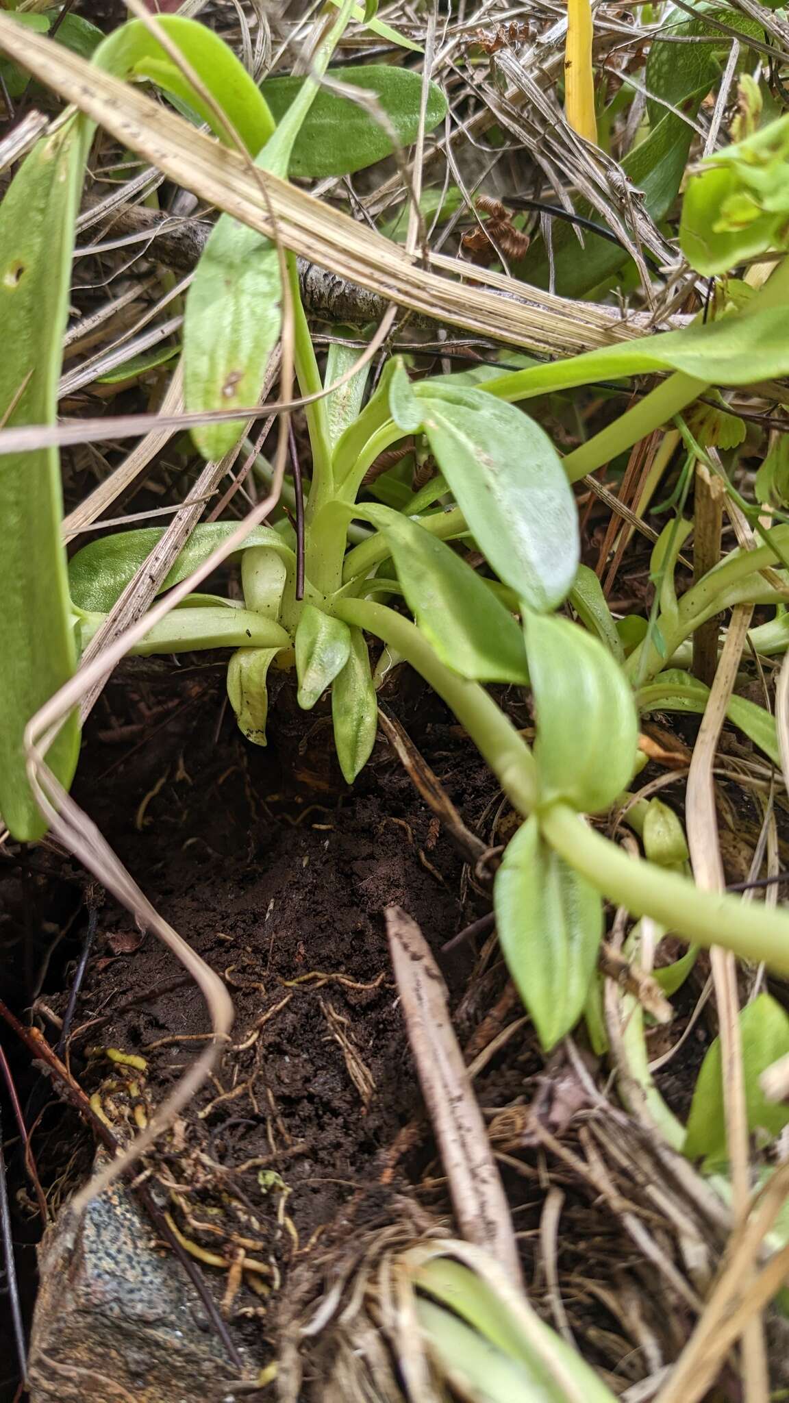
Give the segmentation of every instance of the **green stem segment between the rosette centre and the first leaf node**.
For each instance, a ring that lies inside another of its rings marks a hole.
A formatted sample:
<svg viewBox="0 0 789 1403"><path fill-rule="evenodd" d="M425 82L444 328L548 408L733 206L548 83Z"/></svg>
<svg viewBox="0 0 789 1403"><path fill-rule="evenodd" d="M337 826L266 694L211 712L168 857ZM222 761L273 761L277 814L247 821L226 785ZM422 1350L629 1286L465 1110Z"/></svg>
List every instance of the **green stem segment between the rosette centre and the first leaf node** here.
<svg viewBox="0 0 789 1403"><path fill-rule="evenodd" d="M396 648L430 682L469 732L510 803L521 814L531 812L538 798L532 752L484 687L479 682L466 682L444 666L418 629L386 605L369 599L340 599L334 613Z"/></svg>

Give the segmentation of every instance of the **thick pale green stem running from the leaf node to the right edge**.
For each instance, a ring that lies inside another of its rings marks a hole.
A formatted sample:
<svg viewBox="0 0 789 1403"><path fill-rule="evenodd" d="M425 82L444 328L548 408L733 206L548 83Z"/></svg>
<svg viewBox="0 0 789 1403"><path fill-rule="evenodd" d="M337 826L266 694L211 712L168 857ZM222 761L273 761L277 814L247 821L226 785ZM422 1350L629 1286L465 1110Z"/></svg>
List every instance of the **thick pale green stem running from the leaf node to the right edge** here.
<svg viewBox="0 0 789 1403"><path fill-rule="evenodd" d="M789 916L764 904L724 892L701 891L694 882L654 863L633 860L602 838L566 804L541 814L550 846L591 885L636 916L651 916L701 946L722 946L754 964L789 974Z"/></svg>

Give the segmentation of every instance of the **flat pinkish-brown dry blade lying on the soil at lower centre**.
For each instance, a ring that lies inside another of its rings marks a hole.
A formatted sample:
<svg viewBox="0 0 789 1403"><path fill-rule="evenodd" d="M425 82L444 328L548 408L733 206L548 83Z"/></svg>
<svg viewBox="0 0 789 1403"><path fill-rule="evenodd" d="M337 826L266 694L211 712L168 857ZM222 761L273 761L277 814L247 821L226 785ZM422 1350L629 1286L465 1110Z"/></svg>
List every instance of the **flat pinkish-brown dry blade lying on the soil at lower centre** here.
<svg viewBox="0 0 789 1403"><path fill-rule="evenodd" d="M441 971L420 927L399 906L389 906L386 930L409 1040L441 1148L458 1225L469 1242L489 1247L510 1281L519 1285L521 1267L510 1208L449 1020Z"/></svg>

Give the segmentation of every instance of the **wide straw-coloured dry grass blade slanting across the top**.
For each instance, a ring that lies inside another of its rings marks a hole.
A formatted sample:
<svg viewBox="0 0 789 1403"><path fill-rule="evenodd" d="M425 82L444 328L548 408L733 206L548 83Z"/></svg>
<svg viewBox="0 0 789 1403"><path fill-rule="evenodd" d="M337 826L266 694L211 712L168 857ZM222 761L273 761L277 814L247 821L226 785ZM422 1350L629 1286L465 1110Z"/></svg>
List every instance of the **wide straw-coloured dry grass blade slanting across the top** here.
<svg viewBox="0 0 789 1403"><path fill-rule="evenodd" d="M441 278L399 246L286 181L267 174L261 189L260 173L250 171L234 152L60 45L29 31L20 36L18 25L3 14L0 48L180 185L400 306L550 356L639 334L616 311L594 303L567 302L533 288L519 300L512 296L512 283L493 274L475 278L500 286L507 296ZM431 264L469 275L468 264L451 258L435 257Z"/></svg>

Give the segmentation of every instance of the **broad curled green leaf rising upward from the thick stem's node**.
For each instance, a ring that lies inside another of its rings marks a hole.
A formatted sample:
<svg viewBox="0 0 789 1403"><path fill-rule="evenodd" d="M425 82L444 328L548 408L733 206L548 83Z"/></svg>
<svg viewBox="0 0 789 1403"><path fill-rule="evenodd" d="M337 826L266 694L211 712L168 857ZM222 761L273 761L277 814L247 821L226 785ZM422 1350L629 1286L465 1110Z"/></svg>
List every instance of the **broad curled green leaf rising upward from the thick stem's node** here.
<svg viewBox="0 0 789 1403"><path fill-rule="evenodd" d="M569 619L529 613L524 629L541 800L601 812L633 776L639 718L630 685L602 643Z"/></svg>

